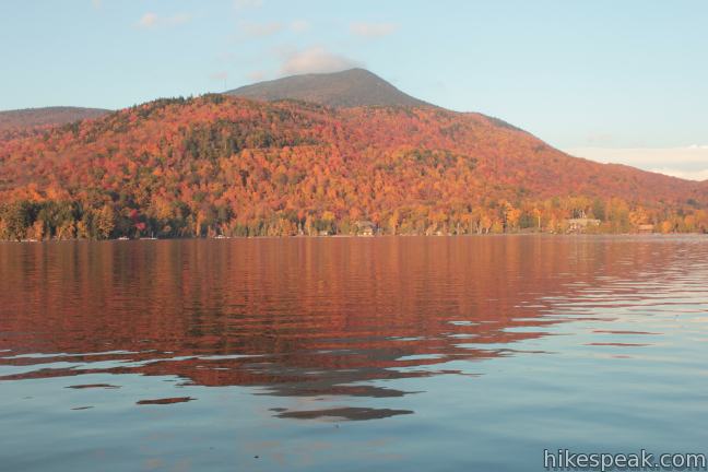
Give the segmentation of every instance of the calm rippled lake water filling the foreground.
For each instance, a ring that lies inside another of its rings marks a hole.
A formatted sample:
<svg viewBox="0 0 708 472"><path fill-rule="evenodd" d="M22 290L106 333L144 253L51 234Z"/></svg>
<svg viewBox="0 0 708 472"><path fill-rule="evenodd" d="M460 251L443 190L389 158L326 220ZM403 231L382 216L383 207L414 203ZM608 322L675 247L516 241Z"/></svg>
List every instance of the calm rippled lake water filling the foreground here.
<svg viewBox="0 0 708 472"><path fill-rule="evenodd" d="M0 244L0 470L708 452L708 237Z"/></svg>

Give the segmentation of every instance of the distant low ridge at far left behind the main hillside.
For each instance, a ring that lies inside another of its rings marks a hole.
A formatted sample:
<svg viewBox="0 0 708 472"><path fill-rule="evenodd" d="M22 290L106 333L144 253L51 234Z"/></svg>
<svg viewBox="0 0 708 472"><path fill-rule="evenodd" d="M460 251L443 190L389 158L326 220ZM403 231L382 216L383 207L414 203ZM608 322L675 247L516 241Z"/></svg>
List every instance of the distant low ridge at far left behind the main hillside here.
<svg viewBox="0 0 708 472"><path fill-rule="evenodd" d="M110 113L101 108L45 107L0 111L0 135L31 132Z"/></svg>

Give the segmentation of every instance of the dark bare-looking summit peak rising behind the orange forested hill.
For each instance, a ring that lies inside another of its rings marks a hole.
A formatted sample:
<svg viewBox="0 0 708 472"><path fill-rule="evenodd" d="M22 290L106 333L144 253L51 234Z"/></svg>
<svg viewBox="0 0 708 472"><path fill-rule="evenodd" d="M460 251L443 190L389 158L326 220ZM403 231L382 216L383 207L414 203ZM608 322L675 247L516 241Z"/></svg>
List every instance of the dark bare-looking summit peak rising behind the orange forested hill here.
<svg viewBox="0 0 708 472"><path fill-rule="evenodd" d="M263 102L296 99L334 108L358 106L432 106L396 88L364 69L334 73L293 75L259 82L226 92Z"/></svg>

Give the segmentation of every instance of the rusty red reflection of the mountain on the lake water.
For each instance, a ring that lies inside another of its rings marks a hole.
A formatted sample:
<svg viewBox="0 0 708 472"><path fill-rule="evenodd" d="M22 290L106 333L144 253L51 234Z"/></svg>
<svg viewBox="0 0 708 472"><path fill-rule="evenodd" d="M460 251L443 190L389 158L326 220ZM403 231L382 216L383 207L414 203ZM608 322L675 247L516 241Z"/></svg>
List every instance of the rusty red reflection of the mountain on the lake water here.
<svg viewBox="0 0 708 472"><path fill-rule="evenodd" d="M553 299L665 267L640 243L375 238L0 245L0 379L174 375L285 397L402 397L371 381L474 375L515 355ZM626 263L612 261L625 260ZM47 354L42 353L62 353ZM177 397L176 397L177 398ZM342 408L279 416L410 413Z"/></svg>

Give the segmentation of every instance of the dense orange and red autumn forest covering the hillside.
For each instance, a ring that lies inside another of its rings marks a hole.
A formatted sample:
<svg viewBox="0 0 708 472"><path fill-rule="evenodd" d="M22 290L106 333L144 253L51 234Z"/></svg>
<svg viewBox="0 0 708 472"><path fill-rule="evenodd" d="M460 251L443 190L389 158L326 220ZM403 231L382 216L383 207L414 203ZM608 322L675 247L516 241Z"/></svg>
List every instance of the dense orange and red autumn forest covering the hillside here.
<svg viewBox="0 0 708 472"><path fill-rule="evenodd" d="M708 188L479 114L158 99L0 140L0 239L706 232Z"/></svg>

